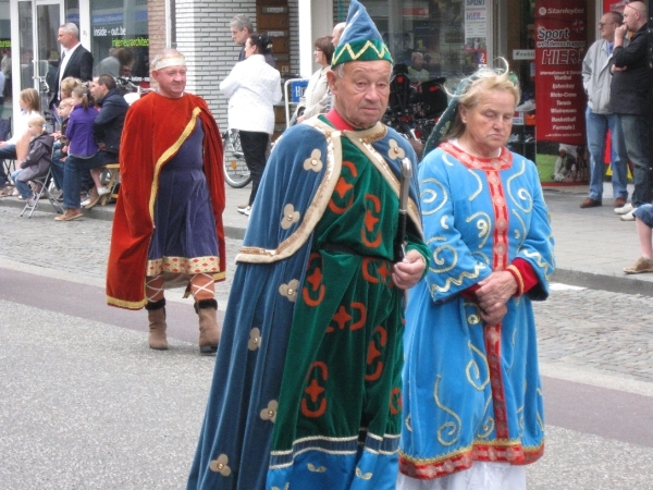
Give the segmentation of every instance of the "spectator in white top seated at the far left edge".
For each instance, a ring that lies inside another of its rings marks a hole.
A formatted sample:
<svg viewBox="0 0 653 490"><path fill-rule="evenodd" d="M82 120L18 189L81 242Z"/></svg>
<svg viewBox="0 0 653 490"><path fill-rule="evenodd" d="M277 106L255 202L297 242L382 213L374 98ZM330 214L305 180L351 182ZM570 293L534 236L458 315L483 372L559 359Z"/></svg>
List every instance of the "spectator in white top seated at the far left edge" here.
<svg viewBox="0 0 653 490"><path fill-rule="evenodd" d="M21 114L14 124L14 135L7 142L0 142L0 197L11 196L12 189L8 185L9 179L4 169L4 159L23 159L27 155L29 136L27 135L27 121L34 115L40 115L38 91L25 88L19 95Z"/></svg>

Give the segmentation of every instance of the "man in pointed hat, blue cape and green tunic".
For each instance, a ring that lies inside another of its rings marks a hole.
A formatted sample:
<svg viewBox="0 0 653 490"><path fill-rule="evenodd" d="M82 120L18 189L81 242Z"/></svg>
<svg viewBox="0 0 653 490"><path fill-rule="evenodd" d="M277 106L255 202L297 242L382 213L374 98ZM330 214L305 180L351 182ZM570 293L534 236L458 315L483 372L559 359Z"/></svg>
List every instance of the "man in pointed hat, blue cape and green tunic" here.
<svg viewBox="0 0 653 490"><path fill-rule="evenodd" d="M399 231L416 157L380 123L391 71L353 1L334 109L283 135L252 205L188 489L394 488L405 290L429 255L415 176Z"/></svg>

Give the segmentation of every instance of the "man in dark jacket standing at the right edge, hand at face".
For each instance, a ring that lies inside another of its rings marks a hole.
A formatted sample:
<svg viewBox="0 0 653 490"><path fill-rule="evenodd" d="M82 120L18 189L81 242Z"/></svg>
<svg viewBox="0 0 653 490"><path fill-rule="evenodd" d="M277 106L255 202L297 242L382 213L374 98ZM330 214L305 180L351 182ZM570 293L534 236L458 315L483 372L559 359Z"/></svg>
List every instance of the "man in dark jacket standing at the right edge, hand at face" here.
<svg viewBox="0 0 653 490"><path fill-rule="evenodd" d="M633 221L633 208L651 203L648 99L653 76L648 60L646 19L646 5L643 2L627 3L624 8L624 25L615 29L609 111L619 115L628 159L634 166L632 203L615 209L624 221ZM634 36L624 47L628 32L634 33Z"/></svg>

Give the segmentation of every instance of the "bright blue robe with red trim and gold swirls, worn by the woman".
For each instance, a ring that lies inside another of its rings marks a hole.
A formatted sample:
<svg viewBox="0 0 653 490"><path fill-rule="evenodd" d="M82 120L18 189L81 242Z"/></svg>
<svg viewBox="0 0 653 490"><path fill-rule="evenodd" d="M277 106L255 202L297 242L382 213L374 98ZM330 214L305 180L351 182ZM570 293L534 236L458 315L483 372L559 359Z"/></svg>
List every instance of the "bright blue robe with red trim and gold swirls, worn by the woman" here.
<svg viewBox="0 0 653 490"><path fill-rule="evenodd" d="M432 256L406 311L399 470L431 479L473 461L533 462L544 415L531 301L547 297L554 268L535 167L506 149L479 159L445 143L421 163L419 183ZM486 327L460 293L516 258L539 283Z"/></svg>

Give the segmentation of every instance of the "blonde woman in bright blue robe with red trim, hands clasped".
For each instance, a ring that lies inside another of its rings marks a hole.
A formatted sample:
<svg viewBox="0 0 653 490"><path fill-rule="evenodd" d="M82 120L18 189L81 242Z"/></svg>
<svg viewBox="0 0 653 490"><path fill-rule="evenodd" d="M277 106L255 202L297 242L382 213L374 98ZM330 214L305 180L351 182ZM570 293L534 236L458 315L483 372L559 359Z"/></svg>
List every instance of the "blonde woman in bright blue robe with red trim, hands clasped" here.
<svg viewBox="0 0 653 490"><path fill-rule="evenodd" d="M406 311L402 490L526 489L544 450L531 302L553 238L534 163L504 146L518 100L507 71L465 79L419 169L431 259Z"/></svg>

